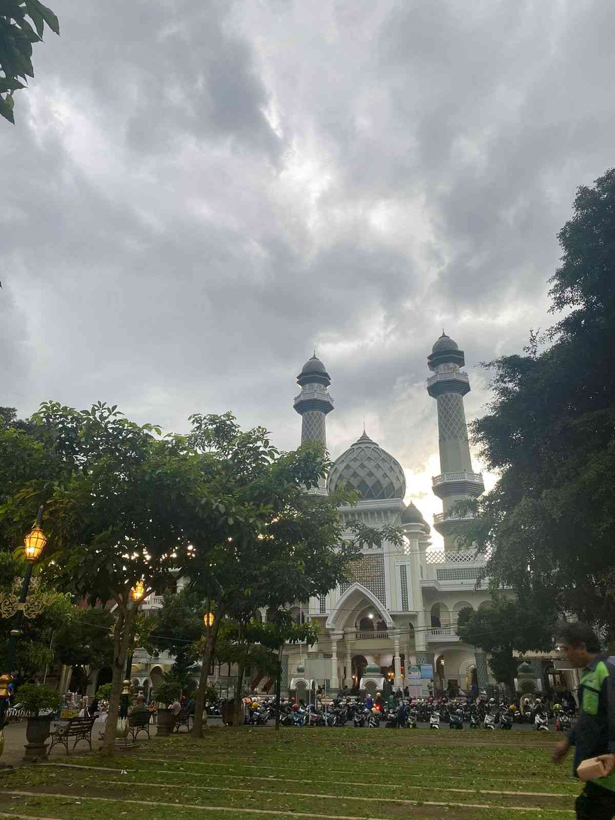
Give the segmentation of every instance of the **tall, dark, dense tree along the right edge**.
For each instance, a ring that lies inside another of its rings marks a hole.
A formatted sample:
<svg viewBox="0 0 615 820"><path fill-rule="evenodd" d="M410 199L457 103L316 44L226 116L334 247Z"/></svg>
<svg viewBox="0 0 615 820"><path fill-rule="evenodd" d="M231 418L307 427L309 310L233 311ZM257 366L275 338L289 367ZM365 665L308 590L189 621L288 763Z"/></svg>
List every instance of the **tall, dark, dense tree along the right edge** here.
<svg viewBox="0 0 615 820"><path fill-rule="evenodd" d="M581 186L558 239L551 311L524 355L493 371L489 412L471 426L500 478L469 503L462 540L490 553L486 575L544 617L572 613L615 635L615 169Z"/></svg>

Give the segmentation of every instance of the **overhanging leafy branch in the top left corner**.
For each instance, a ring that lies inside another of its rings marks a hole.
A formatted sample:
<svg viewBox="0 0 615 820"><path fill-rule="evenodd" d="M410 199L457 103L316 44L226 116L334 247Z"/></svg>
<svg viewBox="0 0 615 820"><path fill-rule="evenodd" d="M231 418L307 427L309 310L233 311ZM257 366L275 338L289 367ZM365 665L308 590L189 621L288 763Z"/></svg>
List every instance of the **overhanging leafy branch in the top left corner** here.
<svg viewBox="0 0 615 820"><path fill-rule="evenodd" d="M13 92L34 77L32 43L43 42L45 23L60 34L57 16L39 0L0 2L0 114L13 125Z"/></svg>

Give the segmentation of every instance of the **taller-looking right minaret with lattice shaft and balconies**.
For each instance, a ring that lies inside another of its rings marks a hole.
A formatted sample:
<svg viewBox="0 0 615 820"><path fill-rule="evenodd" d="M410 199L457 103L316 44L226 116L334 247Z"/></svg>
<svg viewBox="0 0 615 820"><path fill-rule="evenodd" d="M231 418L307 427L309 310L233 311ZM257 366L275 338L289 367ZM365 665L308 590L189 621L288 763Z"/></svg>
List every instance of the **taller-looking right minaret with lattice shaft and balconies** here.
<svg viewBox="0 0 615 820"><path fill-rule="evenodd" d="M453 504L476 498L485 490L481 473L472 471L467 440L463 396L470 392L470 380L460 367L466 363L463 351L442 331L434 344L427 365L434 372L427 380L427 392L438 403L440 476L433 478L433 491L442 499L444 512L434 517L434 527L444 538L444 549L455 549L455 533L467 521L449 512Z"/></svg>

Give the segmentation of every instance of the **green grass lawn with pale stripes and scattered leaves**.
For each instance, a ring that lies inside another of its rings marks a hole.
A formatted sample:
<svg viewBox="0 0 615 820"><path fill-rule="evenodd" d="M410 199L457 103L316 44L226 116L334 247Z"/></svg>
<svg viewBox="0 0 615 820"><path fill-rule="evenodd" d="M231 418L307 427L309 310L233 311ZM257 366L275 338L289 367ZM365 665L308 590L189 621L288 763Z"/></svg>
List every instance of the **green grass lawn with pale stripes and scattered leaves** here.
<svg viewBox="0 0 615 820"><path fill-rule="evenodd" d="M574 817L543 732L212 728L0 773L0 817L45 820ZM68 764L68 765L66 765Z"/></svg>

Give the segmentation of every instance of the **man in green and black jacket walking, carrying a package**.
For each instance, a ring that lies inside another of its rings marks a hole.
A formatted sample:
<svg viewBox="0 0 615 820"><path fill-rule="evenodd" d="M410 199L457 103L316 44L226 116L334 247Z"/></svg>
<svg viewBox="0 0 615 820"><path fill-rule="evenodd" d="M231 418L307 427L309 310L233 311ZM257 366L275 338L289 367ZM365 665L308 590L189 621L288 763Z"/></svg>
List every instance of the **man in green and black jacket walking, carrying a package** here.
<svg viewBox="0 0 615 820"><path fill-rule="evenodd" d="M600 641L585 623L568 623L560 643L574 667L583 667L579 684L579 717L553 749L553 763L560 763L571 745L575 747L573 771L583 760L598 758L606 774L585 783L576 799L577 820L615 818L615 665L600 654Z"/></svg>

